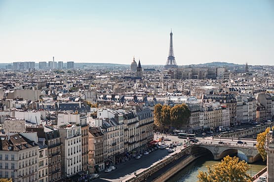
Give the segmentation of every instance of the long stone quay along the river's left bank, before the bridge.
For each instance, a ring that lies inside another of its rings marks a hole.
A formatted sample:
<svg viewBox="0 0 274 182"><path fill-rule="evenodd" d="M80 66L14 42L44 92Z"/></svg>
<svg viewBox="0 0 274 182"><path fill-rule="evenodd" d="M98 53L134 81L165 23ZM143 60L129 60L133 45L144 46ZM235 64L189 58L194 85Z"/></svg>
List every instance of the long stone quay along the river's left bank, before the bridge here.
<svg viewBox="0 0 274 182"><path fill-rule="evenodd" d="M122 182L140 182L140 181L147 182L148 179L153 181L154 180L154 179L152 179L153 177L150 178L150 176L157 173L157 171L159 171L163 167L167 166L168 164L170 164L170 163L172 164L172 163L176 162L178 159L182 160L184 158L187 158L189 153L191 153L192 147L193 147L193 145L189 145L186 148L180 150L179 152L177 150L177 152L172 153L170 156L158 161L155 165L143 170L142 172L140 172L140 173L138 171L135 172L134 175L128 177L126 180L123 180Z"/></svg>

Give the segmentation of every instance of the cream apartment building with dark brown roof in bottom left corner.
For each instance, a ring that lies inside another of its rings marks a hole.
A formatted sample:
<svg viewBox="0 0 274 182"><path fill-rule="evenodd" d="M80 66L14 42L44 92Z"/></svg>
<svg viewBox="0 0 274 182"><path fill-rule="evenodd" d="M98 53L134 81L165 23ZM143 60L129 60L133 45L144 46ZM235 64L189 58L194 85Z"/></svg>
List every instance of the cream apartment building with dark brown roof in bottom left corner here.
<svg viewBox="0 0 274 182"><path fill-rule="evenodd" d="M38 182L38 150L37 141L23 134L1 135L0 178L11 178L13 182Z"/></svg>

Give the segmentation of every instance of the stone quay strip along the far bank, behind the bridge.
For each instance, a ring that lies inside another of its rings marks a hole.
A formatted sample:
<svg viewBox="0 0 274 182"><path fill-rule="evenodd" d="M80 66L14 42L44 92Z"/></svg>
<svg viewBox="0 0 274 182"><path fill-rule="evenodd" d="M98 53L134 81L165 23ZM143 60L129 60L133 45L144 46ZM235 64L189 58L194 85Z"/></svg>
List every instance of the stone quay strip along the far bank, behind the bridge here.
<svg viewBox="0 0 274 182"><path fill-rule="evenodd" d="M228 138L245 138L248 136L256 137L258 133L265 131L268 127L272 128L272 126L274 126L274 123L265 124L261 126L254 126L252 128L238 130L238 131L229 132L229 133L222 133L221 136L228 137Z"/></svg>

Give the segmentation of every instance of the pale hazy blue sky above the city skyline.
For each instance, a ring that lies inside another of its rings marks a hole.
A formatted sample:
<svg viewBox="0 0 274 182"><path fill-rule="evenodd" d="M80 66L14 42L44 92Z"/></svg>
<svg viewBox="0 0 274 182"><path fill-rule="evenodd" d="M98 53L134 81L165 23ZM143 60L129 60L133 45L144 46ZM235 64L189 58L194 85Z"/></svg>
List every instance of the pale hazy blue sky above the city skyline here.
<svg viewBox="0 0 274 182"><path fill-rule="evenodd" d="M0 62L274 65L274 0L0 0Z"/></svg>

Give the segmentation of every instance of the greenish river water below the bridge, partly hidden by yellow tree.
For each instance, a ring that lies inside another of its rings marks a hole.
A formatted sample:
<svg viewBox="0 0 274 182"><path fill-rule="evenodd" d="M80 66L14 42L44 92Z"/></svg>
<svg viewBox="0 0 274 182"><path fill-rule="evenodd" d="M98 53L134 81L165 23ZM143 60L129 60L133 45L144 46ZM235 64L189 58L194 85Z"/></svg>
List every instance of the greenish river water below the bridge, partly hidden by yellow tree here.
<svg viewBox="0 0 274 182"><path fill-rule="evenodd" d="M245 159L246 156L243 153L238 153L237 156L240 159ZM206 166L212 166L213 164L217 164L220 161L215 161L211 157L199 157L190 165L179 171L173 177L171 177L167 182L197 182L198 170L207 172ZM251 176L254 176L256 173L261 171L264 167L266 167L266 162L257 161L255 163L250 164L251 170L248 171L248 174L251 173Z"/></svg>

